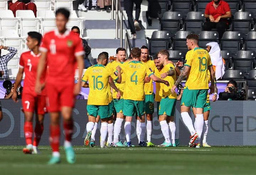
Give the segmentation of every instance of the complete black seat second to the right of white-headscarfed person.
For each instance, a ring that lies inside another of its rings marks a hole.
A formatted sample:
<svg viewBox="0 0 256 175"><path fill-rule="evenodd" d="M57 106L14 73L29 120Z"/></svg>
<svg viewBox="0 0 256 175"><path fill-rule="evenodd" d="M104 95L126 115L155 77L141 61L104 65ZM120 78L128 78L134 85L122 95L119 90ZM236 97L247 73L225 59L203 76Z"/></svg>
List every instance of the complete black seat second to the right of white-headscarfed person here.
<svg viewBox="0 0 256 175"><path fill-rule="evenodd" d="M234 58L234 69L249 73L252 70L255 60L254 51L239 50Z"/></svg>

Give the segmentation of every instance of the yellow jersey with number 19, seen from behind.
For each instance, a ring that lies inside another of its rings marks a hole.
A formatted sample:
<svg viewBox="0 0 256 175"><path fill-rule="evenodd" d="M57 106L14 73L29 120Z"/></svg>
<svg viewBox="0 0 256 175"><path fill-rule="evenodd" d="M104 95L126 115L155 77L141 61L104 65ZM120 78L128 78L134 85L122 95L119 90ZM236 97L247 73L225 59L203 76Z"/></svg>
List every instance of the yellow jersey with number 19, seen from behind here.
<svg viewBox="0 0 256 175"><path fill-rule="evenodd" d="M187 75L186 88L209 89L207 71L212 66L210 55L207 50L194 48L186 54L185 66L190 67Z"/></svg>

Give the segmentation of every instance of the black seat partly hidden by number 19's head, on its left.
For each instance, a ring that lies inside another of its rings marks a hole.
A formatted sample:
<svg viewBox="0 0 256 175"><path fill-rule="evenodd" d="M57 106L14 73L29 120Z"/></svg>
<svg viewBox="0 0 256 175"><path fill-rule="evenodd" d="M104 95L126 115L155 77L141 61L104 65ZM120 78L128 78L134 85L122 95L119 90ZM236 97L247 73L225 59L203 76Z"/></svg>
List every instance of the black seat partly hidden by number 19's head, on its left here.
<svg viewBox="0 0 256 175"><path fill-rule="evenodd" d="M183 51L183 56L185 58L186 53L188 51L186 45L186 37L188 34L191 34L191 31L178 31L173 39L172 49L173 50L181 50Z"/></svg>

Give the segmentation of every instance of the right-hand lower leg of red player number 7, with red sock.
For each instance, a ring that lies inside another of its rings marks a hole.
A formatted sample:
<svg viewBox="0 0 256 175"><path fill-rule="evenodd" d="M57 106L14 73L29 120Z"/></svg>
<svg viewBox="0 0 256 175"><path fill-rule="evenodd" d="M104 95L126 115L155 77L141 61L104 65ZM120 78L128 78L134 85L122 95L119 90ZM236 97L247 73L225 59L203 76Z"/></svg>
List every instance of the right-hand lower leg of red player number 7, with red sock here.
<svg viewBox="0 0 256 175"><path fill-rule="evenodd" d="M36 115L36 126L34 128L34 141L33 141L33 154L39 154L39 149L38 144L41 140L41 136L43 134L43 130L44 130L44 125L43 125L43 121L44 121L44 115L43 114L38 114Z"/></svg>

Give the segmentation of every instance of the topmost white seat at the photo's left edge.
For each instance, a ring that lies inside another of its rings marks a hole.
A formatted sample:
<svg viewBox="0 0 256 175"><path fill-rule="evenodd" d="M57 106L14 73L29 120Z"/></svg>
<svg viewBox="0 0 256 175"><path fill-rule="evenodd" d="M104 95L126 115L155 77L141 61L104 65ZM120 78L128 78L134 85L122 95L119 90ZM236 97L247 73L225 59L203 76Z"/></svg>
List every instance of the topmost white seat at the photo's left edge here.
<svg viewBox="0 0 256 175"><path fill-rule="evenodd" d="M15 29L18 31L18 19L11 10L0 10L0 29Z"/></svg>

